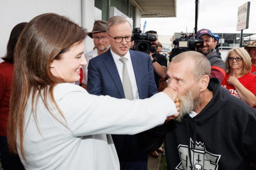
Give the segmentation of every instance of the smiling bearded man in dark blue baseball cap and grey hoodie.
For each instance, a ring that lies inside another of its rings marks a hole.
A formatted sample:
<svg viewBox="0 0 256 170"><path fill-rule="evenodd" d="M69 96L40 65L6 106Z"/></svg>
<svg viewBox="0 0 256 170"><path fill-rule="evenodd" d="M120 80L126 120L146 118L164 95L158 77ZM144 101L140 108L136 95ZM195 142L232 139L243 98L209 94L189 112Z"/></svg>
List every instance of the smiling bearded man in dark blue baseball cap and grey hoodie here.
<svg viewBox="0 0 256 170"><path fill-rule="evenodd" d="M196 48L197 52L202 53L210 61L211 73L210 77L217 77L220 82L225 77L225 63L219 55L217 55L216 49L213 48L213 35L208 29L201 29L196 32L196 38L202 38L204 43L203 47Z"/></svg>

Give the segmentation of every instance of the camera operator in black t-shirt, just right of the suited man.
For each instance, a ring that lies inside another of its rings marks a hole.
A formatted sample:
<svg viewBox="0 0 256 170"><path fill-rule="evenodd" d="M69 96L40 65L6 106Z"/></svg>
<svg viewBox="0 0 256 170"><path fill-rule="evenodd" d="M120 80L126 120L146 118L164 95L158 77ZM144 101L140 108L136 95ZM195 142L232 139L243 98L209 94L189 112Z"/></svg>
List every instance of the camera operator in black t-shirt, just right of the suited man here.
<svg viewBox="0 0 256 170"><path fill-rule="evenodd" d="M164 55L156 52L157 44L158 44L158 35L156 31L146 31L146 34L150 33L156 35L156 41L151 42L151 52L150 55L153 62L154 76L156 81L156 87L159 87L160 77L165 78L167 76L167 59Z"/></svg>

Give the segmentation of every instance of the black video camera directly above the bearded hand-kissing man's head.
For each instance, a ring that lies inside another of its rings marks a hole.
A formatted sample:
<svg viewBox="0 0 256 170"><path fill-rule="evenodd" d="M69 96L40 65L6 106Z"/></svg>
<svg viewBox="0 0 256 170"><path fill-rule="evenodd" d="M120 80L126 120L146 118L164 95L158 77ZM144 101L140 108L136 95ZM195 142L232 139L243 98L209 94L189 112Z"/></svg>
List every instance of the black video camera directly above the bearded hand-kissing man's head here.
<svg viewBox="0 0 256 170"><path fill-rule="evenodd" d="M204 41L202 38L195 38L192 34L188 37L184 34L181 35L181 38L177 38L173 41L175 47L171 50L170 61L181 52L196 51L196 47L203 47Z"/></svg>

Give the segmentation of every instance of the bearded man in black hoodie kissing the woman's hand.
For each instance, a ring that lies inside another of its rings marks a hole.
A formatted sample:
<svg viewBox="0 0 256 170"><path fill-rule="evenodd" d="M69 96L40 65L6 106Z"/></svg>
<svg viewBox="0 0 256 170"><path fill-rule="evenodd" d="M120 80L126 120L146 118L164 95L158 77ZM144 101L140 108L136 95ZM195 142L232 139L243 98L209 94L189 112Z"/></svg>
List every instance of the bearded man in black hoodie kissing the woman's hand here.
<svg viewBox="0 0 256 170"><path fill-rule="evenodd" d="M144 149L165 143L168 170L252 170L256 161L256 111L230 95L199 52L182 52L167 69L180 114L144 132ZM154 141L154 142L153 142Z"/></svg>

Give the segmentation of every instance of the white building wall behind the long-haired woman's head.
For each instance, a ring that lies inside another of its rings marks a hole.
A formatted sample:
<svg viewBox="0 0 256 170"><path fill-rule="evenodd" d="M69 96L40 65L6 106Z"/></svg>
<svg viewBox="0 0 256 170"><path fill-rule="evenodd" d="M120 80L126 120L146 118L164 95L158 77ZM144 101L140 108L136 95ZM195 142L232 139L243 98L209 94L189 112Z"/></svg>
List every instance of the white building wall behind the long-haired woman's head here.
<svg viewBox="0 0 256 170"><path fill-rule="evenodd" d="M67 16L78 25L92 31L94 0L1 0L0 57L6 53L11 30L16 24L28 22L39 14L50 12ZM85 43L85 52L91 51L93 48L92 39L86 38Z"/></svg>

